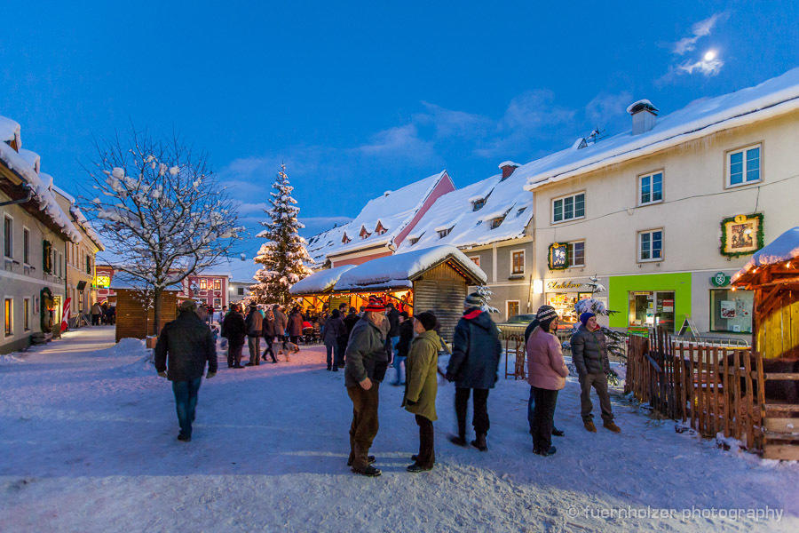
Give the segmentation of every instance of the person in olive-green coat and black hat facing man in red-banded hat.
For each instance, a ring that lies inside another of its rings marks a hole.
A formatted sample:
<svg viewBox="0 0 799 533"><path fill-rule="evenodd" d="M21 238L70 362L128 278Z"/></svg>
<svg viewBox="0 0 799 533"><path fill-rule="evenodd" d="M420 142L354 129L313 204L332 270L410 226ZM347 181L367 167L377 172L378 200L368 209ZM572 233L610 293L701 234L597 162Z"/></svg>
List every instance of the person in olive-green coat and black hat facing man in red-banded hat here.
<svg viewBox="0 0 799 533"><path fill-rule="evenodd" d="M439 350L441 341L436 331L436 315L430 311L417 314L413 321L416 333L407 354L407 386L402 406L415 415L419 426L419 453L411 457L408 472L432 470L436 462L435 435L432 423L436 416L436 394L439 391Z"/></svg>

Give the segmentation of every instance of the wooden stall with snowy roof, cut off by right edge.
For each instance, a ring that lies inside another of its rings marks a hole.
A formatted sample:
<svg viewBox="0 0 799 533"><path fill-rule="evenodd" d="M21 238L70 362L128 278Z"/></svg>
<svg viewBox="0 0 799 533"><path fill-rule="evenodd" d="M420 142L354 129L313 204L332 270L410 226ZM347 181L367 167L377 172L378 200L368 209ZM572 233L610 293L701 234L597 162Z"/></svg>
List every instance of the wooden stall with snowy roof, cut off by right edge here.
<svg viewBox="0 0 799 533"><path fill-rule="evenodd" d="M732 276L732 286L755 291L752 346L763 357L763 457L799 460L799 227L757 251Z"/></svg>

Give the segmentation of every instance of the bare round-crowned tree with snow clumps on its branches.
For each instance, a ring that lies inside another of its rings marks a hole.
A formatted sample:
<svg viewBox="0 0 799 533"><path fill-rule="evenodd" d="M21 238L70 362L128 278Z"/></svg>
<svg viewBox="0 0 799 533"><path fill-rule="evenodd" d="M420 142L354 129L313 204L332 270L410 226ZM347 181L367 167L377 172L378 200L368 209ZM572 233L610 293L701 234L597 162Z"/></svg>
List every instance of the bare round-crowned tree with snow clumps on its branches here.
<svg viewBox="0 0 799 533"><path fill-rule="evenodd" d="M98 154L88 171L99 194L86 211L119 257L112 267L152 287L158 332L163 290L217 264L239 238L233 202L206 156L178 136L162 142L131 131L99 144Z"/></svg>

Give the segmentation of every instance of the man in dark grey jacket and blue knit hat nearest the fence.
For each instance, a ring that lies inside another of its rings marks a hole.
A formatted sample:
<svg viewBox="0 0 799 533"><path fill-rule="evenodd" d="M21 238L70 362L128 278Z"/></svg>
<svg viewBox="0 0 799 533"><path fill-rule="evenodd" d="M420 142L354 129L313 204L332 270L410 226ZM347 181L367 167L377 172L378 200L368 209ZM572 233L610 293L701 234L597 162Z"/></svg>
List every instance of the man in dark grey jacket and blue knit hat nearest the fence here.
<svg viewBox="0 0 799 533"><path fill-rule="evenodd" d="M593 313L580 315L580 327L572 335L572 362L580 378L580 407L582 425L591 433L596 433L594 415L591 413L591 387L597 391L599 407L602 410L602 425L613 433L621 432L613 422L610 394L607 392L607 372L610 362L607 359L607 340L602 328L597 324Z"/></svg>

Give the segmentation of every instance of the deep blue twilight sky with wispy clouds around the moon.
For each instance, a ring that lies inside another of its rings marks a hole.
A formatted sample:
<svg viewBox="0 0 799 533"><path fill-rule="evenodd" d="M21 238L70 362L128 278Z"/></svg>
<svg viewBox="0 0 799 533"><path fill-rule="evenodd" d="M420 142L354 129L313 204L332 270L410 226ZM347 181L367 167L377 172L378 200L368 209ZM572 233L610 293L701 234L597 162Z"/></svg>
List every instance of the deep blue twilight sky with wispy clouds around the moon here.
<svg viewBox="0 0 799 533"><path fill-rule="evenodd" d="M797 6L4 2L0 115L74 194L94 139L178 131L253 228L285 162L312 235L443 168L461 187L620 131L635 99L666 114L778 76Z"/></svg>

